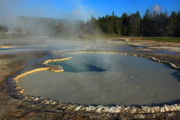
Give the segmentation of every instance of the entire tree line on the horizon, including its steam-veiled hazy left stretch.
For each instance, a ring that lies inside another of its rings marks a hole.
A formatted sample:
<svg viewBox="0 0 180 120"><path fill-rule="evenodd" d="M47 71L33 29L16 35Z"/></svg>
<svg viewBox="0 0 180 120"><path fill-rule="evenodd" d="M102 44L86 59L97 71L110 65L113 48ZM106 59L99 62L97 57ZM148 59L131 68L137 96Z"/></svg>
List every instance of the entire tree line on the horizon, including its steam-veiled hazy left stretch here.
<svg viewBox="0 0 180 120"><path fill-rule="evenodd" d="M38 34L40 32L52 36L104 33L119 36L180 37L180 11L168 14L167 11L146 10L142 17L138 11L130 15L123 13L121 16L112 12L111 15L99 18L92 17L86 22L29 17L20 17L20 21L22 25L14 28L15 33ZM7 31L6 26L0 25L0 32Z"/></svg>

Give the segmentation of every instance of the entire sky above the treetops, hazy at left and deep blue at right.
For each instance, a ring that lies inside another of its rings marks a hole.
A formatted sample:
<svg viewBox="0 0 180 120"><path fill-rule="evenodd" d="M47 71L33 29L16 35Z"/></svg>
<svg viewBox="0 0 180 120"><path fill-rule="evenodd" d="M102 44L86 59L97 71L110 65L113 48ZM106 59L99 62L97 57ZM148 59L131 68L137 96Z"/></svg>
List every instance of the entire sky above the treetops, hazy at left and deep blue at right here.
<svg viewBox="0 0 180 120"><path fill-rule="evenodd" d="M168 12L180 10L180 0L0 0L0 15L88 19L112 11L143 15L154 5Z"/></svg>

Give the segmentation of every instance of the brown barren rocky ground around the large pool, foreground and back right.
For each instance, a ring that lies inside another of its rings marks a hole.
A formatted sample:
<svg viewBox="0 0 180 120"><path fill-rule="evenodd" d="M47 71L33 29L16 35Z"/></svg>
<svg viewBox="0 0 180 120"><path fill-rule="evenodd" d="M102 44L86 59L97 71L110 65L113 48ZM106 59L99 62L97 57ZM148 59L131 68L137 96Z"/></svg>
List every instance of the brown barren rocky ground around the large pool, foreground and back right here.
<svg viewBox="0 0 180 120"><path fill-rule="evenodd" d="M174 50L180 51L179 43L164 43L154 41L129 41L128 39L114 39L103 41L105 46L89 45L84 50L98 51L101 48L109 46L131 46L133 49L122 50L123 53L142 56L153 59L157 62L168 64L170 67L180 69L180 56L169 53L154 53L155 50ZM142 47L143 46L143 47ZM145 46L145 47L144 47ZM116 51L117 49L114 49ZM99 50L100 51L100 50ZM108 50L107 50L108 51ZM154 120L179 120L180 111L167 111L154 113L129 113L129 112L101 112L102 108L96 108L94 111L88 111L83 107L61 104L57 101L46 100L44 98L34 98L29 96L23 98L14 98L9 94L7 78L16 71L25 66L29 61L40 58L45 51L17 53L9 55L0 55L0 120L128 120L128 119L154 119ZM112 110L111 110L112 111ZM125 110L128 111L128 110Z"/></svg>

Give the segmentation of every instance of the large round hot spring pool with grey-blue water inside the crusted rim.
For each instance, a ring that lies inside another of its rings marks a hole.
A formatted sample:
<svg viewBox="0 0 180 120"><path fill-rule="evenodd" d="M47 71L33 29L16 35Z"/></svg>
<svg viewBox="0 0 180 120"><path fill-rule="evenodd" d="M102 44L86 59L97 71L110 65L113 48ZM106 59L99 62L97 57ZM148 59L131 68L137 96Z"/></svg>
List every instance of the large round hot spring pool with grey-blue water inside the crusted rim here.
<svg viewBox="0 0 180 120"><path fill-rule="evenodd" d="M64 103L143 105L180 98L176 73L151 60L112 54L68 54L72 59L51 62L64 72L41 71L19 80L24 94Z"/></svg>

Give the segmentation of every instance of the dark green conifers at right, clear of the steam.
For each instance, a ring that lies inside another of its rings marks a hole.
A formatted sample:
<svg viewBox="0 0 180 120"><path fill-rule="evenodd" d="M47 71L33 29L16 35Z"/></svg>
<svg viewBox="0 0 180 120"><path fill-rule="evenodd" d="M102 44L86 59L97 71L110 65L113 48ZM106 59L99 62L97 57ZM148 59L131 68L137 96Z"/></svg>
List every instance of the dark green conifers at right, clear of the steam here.
<svg viewBox="0 0 180 120"><path fill-rule="evenodd" d="M100 29L105 34L121 36L180 36L180 11L172 12L168 15L165 12L156 12L146 10L143 17L140 13L128 15L123 13L122 16L116 16L114 12L111 15L92 17L86 23L89 26L88 32L92 28Z"/></svg>

